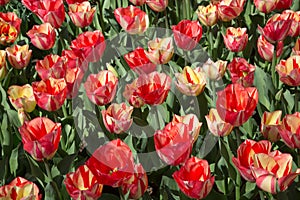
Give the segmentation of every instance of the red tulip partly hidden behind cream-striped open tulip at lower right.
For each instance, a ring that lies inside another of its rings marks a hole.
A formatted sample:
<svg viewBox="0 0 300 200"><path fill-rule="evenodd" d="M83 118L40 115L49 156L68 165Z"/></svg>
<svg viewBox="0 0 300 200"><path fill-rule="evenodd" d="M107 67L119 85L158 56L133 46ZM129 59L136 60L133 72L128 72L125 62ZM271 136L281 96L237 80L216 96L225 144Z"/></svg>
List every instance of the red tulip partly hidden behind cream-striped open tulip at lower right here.
<svg viewBox="0 0 300 200"><path fill-rule="evenodd" d="M247 139L237 149L237 158L233 157L232 162L246 181L255 182L251 167L254 164L255 154L271 152L272 144L267 140L259 142Z"/></svg>

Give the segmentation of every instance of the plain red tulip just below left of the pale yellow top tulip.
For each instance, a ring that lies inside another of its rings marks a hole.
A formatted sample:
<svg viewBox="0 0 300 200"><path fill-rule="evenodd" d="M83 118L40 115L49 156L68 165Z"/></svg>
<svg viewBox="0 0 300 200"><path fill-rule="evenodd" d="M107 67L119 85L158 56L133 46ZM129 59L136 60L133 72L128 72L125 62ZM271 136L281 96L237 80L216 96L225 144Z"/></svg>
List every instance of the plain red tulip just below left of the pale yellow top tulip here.
<svg viewBox="0 0 300 200"><path fill-rule="evenodd" d="M202 26L198 21L181 20L172 26L176 45L185 50L193 50L202 37Z"/></svg>

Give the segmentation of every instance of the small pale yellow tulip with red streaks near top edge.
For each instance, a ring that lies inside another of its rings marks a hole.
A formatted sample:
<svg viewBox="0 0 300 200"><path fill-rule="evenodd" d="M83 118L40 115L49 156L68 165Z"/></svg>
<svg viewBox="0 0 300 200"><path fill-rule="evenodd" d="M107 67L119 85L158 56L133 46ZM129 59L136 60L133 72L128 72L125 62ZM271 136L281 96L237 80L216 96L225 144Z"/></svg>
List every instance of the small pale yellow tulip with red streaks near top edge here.
<svg viewBox="0 0 300 200"><path fill-rule="evenodd" d="M218 6L212 3L206 7L198 6L197 15L204 26L213 26L218 21Z"/></svg>

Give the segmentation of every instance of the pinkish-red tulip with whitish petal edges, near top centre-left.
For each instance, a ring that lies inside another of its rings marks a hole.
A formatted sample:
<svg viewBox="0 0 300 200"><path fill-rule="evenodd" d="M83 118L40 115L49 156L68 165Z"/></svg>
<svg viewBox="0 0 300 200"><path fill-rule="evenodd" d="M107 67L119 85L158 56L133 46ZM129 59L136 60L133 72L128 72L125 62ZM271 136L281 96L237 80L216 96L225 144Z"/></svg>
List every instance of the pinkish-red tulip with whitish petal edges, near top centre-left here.
<svg viewBox="0 0 300 200"><path fill-rule="evenodd" d="M129 34L144 33L149 27L147 13L133 5L115 9L114 15L120 26Z"/></svg>

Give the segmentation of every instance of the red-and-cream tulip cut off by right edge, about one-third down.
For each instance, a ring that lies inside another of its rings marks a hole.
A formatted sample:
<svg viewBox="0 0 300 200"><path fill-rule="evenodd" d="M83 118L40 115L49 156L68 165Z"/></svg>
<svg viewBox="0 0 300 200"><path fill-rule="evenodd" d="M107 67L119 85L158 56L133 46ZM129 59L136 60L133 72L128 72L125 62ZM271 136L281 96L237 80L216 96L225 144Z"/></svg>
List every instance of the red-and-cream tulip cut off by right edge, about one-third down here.
<svg viewBox="0 0 300 200"><path fill-rule="evenodd" d="M280 81L289 86L300 85L300 56L295 55L281 60L276 66Z"/></svg>

